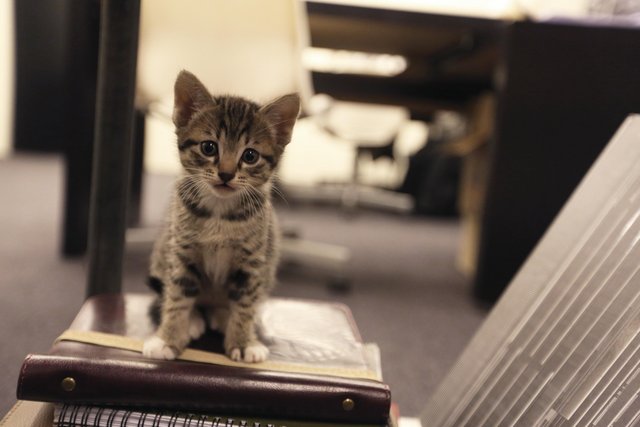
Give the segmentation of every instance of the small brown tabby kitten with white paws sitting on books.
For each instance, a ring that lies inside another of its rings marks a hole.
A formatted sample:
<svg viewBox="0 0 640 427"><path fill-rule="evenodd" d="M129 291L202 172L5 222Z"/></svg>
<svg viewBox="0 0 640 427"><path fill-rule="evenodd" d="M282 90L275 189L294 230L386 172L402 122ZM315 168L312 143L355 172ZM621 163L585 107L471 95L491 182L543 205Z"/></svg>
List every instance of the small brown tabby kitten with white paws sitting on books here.
<svg viewBox="0 0 640 427"><path fill-rule="evenodd" d="M204 313L224 333L231 359L261 362L269 351L256 335L256 309L274 285L278 261L272 178L300 100L291 94L259 106L213 97L187 71L174 90L184 170L151 255L160 320L143 353L176 358L204 332Z"/></svg>

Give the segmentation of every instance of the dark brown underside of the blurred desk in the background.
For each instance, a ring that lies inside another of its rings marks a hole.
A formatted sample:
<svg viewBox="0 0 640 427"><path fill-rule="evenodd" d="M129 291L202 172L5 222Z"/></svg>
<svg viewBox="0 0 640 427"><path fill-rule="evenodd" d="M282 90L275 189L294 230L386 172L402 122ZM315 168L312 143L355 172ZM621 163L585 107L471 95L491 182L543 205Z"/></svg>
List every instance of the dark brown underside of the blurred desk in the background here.
<svg viewBox="0 0 640 427"><path fill-rule="evenodd" d="M314 72L317 92L428 116L493 88L505 21L313 1L307 11L312 46L398 54L408 62L394 77Z"/></svg>

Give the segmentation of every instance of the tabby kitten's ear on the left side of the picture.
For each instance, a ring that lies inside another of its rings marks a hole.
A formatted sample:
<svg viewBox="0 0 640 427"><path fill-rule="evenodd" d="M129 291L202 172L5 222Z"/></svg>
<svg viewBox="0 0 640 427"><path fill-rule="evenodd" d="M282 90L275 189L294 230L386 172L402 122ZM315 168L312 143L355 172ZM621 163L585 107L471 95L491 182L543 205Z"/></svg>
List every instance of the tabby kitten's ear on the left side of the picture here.
<svg viewBox="0 0 640 427"><path fill-rule="evenodd" d="M173 89L173 124L176 127L186 126L196 111L213 104L207 88L186 70L180 71Z"/></svg>

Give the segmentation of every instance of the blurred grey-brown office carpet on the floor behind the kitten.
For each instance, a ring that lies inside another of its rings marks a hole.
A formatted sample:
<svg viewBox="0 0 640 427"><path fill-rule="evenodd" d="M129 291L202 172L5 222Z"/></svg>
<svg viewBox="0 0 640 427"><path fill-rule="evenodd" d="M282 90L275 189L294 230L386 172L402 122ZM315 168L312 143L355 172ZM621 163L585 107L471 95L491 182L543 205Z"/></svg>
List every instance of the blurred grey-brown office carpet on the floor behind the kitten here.
<svg viewBox="0 0 640 427"><path fill-rule="evenodd" d="M45 352L84 298L86 263L59 255L63 163L53 156L0 161L0 414L15 401L20 365ZM171 178L146 176L143 222L164 211ZM337 209L279 207L281 222L303 237L349 247L352 290L332 292L319 271L297 267L280 274L276 295L346 303L363 338L377 342L383 374L403 415L418 415L429 395L477 329L486 312L456 271L456 221ZM128 248L126 291L143 285L148 247Z"/></svg>

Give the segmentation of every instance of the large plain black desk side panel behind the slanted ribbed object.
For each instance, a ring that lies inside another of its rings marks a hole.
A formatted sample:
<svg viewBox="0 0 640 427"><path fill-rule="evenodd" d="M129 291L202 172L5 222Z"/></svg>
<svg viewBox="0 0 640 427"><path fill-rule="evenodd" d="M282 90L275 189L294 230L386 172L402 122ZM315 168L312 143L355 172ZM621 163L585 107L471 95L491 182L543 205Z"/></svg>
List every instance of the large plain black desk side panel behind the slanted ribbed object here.
<svg viewBox="0 0 640 427"><path fill-rule="evenodd" d="M640 112L640 31L513 24L475 293L497 299L624 118Z"/></svg>

